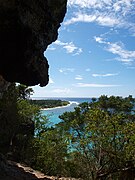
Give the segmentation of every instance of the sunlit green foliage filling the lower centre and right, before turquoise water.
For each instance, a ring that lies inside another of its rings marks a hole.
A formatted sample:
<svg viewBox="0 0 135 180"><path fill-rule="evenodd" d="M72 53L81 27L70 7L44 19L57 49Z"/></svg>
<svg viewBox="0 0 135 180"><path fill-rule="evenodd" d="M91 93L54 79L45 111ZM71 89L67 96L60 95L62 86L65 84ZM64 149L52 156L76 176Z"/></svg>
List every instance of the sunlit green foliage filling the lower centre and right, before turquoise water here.
<svg viewBox="0 0 135 180"><path fill-rule="evenodd" d="M101 96L65 112L53 128L42 123L31 164L48 175L134 179L135 99ZM42 128L41 128L42 129Z"/></svg>

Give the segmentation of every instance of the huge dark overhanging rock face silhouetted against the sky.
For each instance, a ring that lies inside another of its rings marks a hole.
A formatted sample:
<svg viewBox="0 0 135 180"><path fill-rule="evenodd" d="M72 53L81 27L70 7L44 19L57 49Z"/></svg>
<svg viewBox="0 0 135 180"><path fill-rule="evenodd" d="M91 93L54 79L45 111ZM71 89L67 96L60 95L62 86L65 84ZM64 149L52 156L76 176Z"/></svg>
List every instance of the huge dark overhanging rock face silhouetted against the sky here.
<svg viewBox="0 0 135 180"><path fill-rule="evenodd" d="M45 86L43 52L57 39L67 0L0 0L0 75L6 81Z"/></svg>

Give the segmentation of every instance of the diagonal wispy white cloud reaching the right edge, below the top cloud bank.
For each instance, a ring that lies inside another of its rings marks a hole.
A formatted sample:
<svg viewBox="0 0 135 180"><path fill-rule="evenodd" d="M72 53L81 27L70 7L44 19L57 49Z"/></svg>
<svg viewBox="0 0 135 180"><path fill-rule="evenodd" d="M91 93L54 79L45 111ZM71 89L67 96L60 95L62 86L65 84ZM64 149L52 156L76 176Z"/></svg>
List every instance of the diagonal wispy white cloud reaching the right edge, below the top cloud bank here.
<svg viewBox="0 0 135 180"><path fill-rule="evenodd" d="M122 42L107 42L102 37L94 37L94 39L96 42L104 44L106 51L117 55L116 60L129 65L135 60L135 51L127 50Z"/></svg>

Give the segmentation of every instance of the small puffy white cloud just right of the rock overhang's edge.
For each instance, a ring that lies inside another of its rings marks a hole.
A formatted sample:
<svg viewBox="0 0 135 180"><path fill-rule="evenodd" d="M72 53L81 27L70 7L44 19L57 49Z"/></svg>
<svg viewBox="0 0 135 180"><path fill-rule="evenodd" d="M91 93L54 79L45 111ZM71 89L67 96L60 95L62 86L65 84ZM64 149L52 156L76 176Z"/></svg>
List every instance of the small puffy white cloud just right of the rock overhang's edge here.
<svg viewBox="0 0 135 180"><path fill-rule="evenodd" d="M68 54L79 55L82 53L82 48L77 47L73 42L62 42L60 40L56 40L54 44L62 46L64 49L66 49Z"/></svg>

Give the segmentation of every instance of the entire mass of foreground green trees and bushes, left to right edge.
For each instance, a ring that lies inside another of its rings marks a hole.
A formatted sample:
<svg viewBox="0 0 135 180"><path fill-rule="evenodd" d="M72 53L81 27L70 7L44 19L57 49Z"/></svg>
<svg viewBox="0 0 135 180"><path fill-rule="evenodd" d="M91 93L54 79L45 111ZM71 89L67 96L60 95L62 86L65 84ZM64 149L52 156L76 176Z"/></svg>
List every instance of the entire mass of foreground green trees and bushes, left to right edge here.
<svg viewBox="0 0 135 180"><path fill-rule="evenodd" d="M0 153L47 175L84 180L135 178L135 99L92 99L55 127L31 104L32 89L12 84L0 100Z"/></svg>

